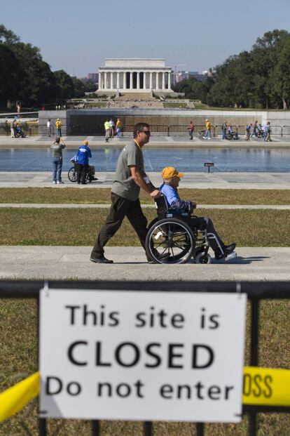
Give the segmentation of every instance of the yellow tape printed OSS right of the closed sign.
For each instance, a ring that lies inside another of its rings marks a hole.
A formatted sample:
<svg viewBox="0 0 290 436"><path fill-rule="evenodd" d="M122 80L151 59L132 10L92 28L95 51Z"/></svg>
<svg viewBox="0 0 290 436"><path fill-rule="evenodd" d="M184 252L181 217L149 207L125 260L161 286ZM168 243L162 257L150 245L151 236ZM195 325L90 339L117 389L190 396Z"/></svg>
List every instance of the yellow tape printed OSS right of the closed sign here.
<svg viewBox="0 0 290 436"><path fill-rule="evenodd" d="M290 407L290 369L245 366L242 404Z"/></svg>

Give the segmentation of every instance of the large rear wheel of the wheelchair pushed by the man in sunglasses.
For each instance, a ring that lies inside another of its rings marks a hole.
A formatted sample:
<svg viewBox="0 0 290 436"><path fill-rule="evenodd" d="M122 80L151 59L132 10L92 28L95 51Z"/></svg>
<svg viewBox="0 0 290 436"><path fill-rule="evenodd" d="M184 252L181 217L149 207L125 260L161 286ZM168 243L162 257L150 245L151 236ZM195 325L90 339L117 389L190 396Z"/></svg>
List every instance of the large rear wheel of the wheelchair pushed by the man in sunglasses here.
<svg viewBox="0 0 290 436"><path fill-rule="evenodd" d="M193 232L184 221L169 218L159 220L149 228L146 254L154 263L186 263L194 248Z"/></svg>

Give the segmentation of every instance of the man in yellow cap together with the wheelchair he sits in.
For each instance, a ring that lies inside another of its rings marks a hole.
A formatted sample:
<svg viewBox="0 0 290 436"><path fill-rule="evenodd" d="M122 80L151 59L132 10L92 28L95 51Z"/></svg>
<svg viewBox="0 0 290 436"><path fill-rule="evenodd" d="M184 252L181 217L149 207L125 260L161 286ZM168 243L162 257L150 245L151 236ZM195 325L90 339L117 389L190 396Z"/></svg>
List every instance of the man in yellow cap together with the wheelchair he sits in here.
<svg viewBox="0 0 290 436"><path fill-rule="evenodd" d="M167 166L161 174L162 195L156 199L158 218L149 225L146 237L146 254L151 263L187 263L191 258L195 263L211 263L209 246L217 260L234 258L235 244L225 245L212 220L191 215L195 202L179 198L177 187L184 173Z"/></svg>

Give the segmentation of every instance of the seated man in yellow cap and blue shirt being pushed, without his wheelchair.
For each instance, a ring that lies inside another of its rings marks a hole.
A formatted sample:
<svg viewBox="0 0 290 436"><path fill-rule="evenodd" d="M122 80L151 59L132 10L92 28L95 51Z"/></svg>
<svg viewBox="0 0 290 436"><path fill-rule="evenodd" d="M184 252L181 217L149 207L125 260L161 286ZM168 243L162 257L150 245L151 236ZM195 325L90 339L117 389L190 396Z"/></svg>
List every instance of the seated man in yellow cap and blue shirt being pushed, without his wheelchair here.
<svg viewBox="0 0 290 436"><path fill-rule="evenodd" d="M207 216L196 217L191 216L194 209L196 209L197 204L192 202L191 200L181 200L179 194L177 192L177 188L179 187L179 181L181 177L184 177L184 173L179 173L177 169L173 166L167 166L163 169L161 175L163 176L163 184L160 186L159 190L163 193L165 199L167 200L168 206L170 207L170 212L173 215L182 216L186 223L188 223L191 227L198 227L200 230L207 230L209 233L213 233L216 236L216 239L219 241L221 248L223 249L223 253L219 249L219 244L215 239L209 239L209 245L214 251L214 255L216 259L221 259L225 256L228 256L235 250L235 244L225 245L219 234L216 232L214 228L214 224L212 220L207 218Z"/></svg>

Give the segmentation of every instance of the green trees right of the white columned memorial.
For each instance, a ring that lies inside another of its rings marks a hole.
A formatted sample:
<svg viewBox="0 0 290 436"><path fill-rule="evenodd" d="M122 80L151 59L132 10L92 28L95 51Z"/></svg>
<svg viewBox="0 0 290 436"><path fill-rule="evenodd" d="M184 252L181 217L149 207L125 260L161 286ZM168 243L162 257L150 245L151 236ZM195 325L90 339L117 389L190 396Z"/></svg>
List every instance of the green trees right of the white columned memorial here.
<svg viewBox="0 0 290 436"><path fill-rule="evenodd" d="M209 70L205 81L186 79L175 91L213 107L289 109L289 32L266 32L250 51L232 55Z"/></svg>

